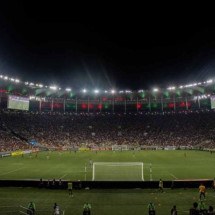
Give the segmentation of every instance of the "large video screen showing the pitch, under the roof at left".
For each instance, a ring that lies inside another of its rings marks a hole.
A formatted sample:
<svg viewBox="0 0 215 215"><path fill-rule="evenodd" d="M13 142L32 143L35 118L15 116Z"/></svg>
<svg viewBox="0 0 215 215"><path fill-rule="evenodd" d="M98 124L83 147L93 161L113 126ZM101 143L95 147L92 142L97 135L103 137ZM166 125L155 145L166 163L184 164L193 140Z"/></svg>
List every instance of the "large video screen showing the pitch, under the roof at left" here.
<svg viewBox="0 0 215 215"><path fill-rule="evenodd" d="M29 98L20 96L8 96L8 109L29 110Z"/></svg>

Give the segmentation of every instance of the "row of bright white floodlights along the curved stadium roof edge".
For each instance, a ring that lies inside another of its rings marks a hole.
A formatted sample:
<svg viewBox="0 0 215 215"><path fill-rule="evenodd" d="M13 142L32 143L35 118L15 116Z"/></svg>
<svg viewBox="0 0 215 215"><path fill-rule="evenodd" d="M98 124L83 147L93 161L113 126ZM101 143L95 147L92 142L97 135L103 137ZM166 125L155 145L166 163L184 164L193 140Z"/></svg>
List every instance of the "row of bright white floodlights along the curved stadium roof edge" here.
<svg viewBox="0 0 215 215"><path fill-rule="evenodd" d="M15 82L15 83L21 83L21 81L19 79L10 78L10 77L4 76L4 75L0 75L0 78L4 79L4 80ZM204 81L204 82L198 82L198 83L192 83L192 84L187 84L187 85L181 85L178 88L179 89L190 88L190 87L195 87L195 86L204 85L204 84L212 84L213 82L214 81L212 79L209 79L209 80ZM49 88L51 90L61 90L61 88L59 88L57 86L44 86L43 84L34 84L33 82L24 82L24 84L27 85L27 86L35 86L35 87L39 87L39 88ZM176 89L175 86L170 86L170 87L167 88L167 90L169 90L169 91L174 91L175 89ZM71 92L72 89L71 88L66 88L65 91L66 92ZM153 92L158 92L158 91L159 91L158 88L154 88L153 89ZM82 90L82 93L87 93L87 92L88 92L87 89L83 89ZM98 94L98 93L100 93L100 90L95 89L93 92L95 94ZM144 90L138 90L138 93L142 93L142 92L144 92ZM105 90L104 93L115 94L116 91L115 90L110 90L110 91ZM131 90L120 90L119 93L120 94L121 93L130 94L130 93L132 93L132 91Z"/></svg>

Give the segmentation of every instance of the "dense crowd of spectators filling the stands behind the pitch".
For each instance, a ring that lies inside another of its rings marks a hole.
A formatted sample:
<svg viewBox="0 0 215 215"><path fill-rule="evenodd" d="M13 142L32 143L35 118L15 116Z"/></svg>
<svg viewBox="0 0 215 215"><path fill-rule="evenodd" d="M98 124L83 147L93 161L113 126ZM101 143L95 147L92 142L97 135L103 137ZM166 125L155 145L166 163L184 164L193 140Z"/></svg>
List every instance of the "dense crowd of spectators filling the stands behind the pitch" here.
<svg viewBox="0 0 215 215"><path fill-rule="evenodd" d="M71 114L2 111L0 151L26 148L36 140L47 147L189 146L214 148L215 112Z"/></svg>

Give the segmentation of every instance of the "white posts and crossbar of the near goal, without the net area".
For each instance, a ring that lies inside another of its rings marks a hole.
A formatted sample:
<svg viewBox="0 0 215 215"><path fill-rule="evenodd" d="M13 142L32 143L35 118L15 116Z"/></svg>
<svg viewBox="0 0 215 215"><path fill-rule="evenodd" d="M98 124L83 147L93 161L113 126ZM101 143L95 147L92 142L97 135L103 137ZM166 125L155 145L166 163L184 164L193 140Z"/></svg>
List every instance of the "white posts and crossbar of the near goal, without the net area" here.
<svg viewBox="0 0 215 215"><path fill-rule="evenodd" d="M92 181L95 181L95 166L96 165L115 165L115 166L141 166L141 180L144 181L144 163L143 162L93 162Z"/></svg>

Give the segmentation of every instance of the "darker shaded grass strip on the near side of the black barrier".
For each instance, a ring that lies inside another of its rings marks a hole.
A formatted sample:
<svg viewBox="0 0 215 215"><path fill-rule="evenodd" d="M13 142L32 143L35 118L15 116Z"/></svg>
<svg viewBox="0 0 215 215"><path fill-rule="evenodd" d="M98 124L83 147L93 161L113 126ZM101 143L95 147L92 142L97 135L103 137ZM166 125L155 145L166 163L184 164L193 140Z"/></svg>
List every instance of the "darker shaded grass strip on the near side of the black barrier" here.
<svg viewBox="0 0 215 215"><path fill-rule="evenodd" d="M197 189L165 189L165 193L158 193L155 189L74 190L72 198L67 190L0 188L0 214L18 215L19 205L27 206L29 201L34 201L37 215L53 214L55 202L65 215L82 215L87 201L92 205L92 215L147 215L147 205L153 201L157 215L170 214L173 205L177 206L179 215L188 215L198 197ZM215 192L208 189L206 198L207 207L214 206Z"/></svg>

